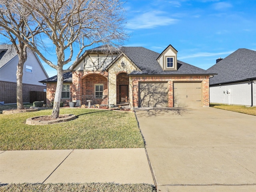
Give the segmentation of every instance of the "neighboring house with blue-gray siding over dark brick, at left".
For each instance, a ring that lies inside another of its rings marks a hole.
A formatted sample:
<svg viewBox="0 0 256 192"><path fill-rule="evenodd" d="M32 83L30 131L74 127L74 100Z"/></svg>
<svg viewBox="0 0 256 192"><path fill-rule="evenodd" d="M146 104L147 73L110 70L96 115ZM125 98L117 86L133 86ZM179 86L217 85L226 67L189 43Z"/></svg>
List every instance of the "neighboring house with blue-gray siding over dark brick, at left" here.
<svg viewBox="0 0 256 192"><path fill-rule="evenodd" d="M46 86L38 82L48 78L40 60L27 49L28 58L24 63L22 77L23 102L30 102L30 91L44 91ZM18 54L12 45L0 45L0 101L16 103L16 71Z"/></svg>

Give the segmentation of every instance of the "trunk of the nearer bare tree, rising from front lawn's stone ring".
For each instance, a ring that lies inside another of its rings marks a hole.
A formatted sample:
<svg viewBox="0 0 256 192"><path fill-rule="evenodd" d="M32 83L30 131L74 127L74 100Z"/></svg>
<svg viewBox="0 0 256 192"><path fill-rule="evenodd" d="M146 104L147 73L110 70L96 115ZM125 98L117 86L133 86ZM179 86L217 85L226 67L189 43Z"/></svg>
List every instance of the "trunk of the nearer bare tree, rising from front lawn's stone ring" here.
<svg viewBox="0 0 256 192"><path fill-rule="evenodd" d="M52 119L56 119L59 117L60 113L60 99L61 99L61 93L62 93L62 85L63 85L63 72L62 68L57 69L57 86L56 86L56 92L54 96L54 103L53 103L53 109L52 109Z"/></svg>

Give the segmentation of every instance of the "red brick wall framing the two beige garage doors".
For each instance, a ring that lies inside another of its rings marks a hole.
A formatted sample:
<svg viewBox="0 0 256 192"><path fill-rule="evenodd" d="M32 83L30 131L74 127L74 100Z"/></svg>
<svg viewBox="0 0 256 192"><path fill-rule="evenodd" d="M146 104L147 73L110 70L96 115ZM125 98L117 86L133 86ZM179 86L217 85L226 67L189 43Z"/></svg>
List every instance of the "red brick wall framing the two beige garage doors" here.
<svg viewBox="0 0 256 192"><path fill-rule="evenodd" d="M203 106L209 106L209 76L177 76L177 77L132 77L132 103L134 107L139 105L138 97L138 84L143 81L168 81L168 107L173 107L173 82L177 81L201 81L202 82L202 94L203 94Z"/></svg>

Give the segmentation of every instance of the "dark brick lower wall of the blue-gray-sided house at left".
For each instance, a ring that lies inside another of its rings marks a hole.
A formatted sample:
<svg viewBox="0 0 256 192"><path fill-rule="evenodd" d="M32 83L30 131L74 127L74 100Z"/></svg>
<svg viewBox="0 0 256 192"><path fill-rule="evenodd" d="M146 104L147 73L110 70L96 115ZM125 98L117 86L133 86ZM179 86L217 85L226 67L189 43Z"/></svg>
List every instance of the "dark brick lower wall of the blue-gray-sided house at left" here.
<svg viewBox="0 0 256 192"><path fill-rule="evenodd" d="M17 84L14 82L0 81L0 101L4 103L16 103L16 87ZM29 102L30 91L44 91L46 86L22 84L23 102Z"/></svg>

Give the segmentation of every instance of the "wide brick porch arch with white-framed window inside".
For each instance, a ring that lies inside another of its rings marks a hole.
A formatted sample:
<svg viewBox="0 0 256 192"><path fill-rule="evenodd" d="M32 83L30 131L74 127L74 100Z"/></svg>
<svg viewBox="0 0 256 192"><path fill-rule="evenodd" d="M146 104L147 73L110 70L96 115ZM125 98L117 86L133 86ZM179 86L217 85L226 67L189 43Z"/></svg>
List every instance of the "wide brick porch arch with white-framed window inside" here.
<svg viewBox="0 0 256 192"><path fill-rule="evenodd" d="M82 104L108 105L108 79L101 74L88 74L82 79Z"/></svg>

